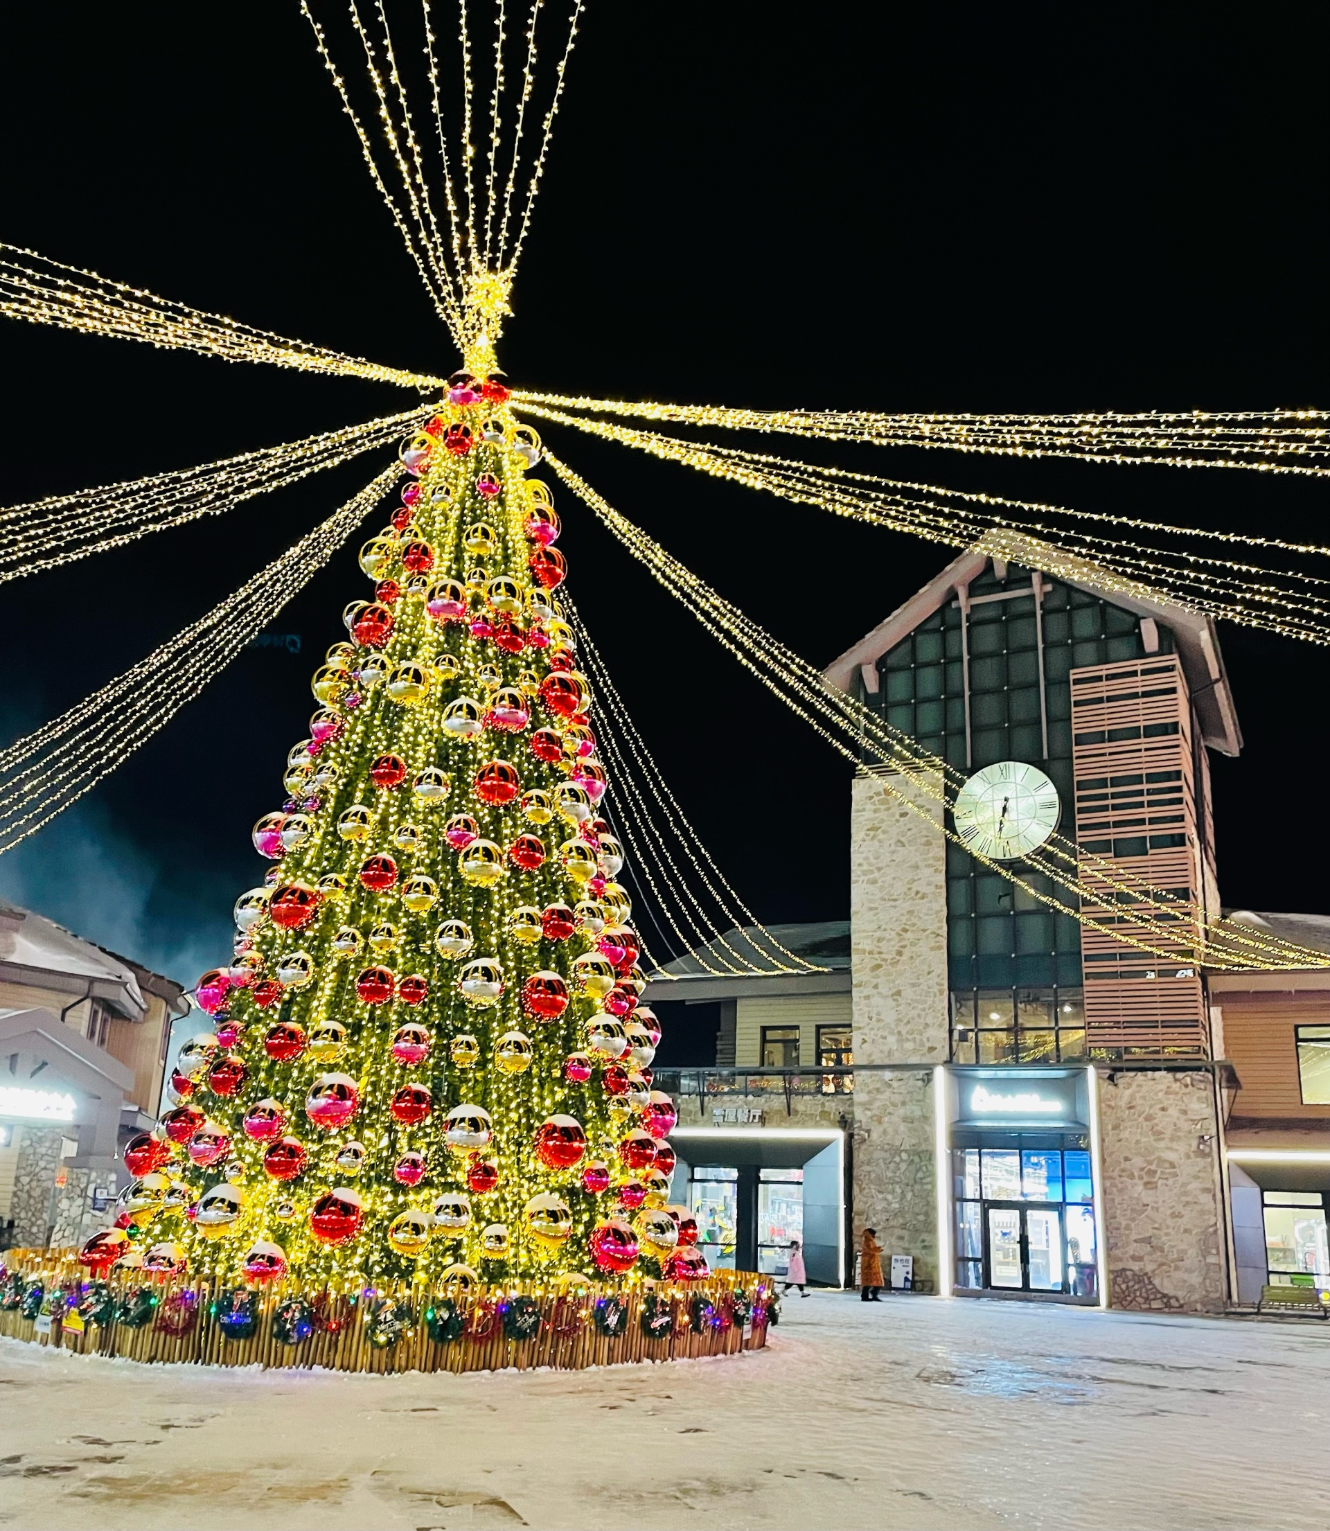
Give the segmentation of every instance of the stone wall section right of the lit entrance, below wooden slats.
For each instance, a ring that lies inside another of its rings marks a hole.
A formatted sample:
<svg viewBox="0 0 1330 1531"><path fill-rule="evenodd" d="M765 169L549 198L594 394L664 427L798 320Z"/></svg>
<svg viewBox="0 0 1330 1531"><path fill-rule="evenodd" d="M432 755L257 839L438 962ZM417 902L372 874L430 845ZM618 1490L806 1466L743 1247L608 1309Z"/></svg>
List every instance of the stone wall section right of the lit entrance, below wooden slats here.
<svg viewBox="0 0 1330 1531"><path fill-rule="evenodd" d="M1223 1312L1227 1295L1211 1075L1099 1072L1113 1307Z"/></svg>

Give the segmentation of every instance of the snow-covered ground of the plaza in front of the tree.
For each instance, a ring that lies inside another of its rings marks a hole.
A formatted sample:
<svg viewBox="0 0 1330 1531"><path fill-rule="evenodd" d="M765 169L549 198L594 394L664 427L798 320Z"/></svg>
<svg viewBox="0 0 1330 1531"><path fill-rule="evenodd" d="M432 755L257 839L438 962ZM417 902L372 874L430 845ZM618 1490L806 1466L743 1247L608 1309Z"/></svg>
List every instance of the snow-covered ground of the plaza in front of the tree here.
<svg viewBox="0 0 1330 1531"><path fill-rule="evenodd" d="M1321 1528L1330 1324L816 1294L764 1353L144 1367L0 1341L0 1526Z"/></svg>

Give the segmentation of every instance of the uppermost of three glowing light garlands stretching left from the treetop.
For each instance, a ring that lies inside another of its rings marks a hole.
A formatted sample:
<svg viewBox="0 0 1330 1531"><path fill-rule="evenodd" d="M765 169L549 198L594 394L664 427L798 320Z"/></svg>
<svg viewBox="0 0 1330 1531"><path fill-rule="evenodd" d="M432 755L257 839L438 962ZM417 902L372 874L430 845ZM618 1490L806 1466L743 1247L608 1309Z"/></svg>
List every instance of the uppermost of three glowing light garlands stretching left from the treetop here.
<svg viewBox="0 0 1330 1531"><path fill-rule="evenodd" d="M139 340L164 351L197 351L223 361L266 361L300 372L369 378L421 390L436 389L444 381L326 351L305 340L288 340L223 314L187 308L18 245L0 243L0 314L87 335Z"/></svg>

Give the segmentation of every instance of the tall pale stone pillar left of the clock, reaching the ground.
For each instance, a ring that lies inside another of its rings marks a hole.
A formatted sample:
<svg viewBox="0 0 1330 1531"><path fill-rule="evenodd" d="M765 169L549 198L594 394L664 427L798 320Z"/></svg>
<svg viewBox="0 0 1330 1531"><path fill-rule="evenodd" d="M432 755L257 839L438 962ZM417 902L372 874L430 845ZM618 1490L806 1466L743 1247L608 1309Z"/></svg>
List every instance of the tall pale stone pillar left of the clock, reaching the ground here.
<svg viewBox="0 0 1330 1531"><path fill-rule="evenodd" d="M941 804L914 793L926 816L857 776L851 813L854 1059L947 1061L946 841ZM932 821L932 822L931 822ZM932 1073L854 1079L854 1234L875 1228L886 1255L911 1254L938 1286Z"/></svg>

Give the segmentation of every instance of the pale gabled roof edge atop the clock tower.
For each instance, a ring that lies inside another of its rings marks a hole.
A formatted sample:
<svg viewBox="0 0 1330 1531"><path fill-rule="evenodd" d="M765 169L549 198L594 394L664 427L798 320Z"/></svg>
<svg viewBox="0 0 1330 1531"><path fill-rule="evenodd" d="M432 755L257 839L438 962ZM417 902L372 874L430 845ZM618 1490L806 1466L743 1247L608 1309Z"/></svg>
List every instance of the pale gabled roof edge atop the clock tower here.
<svg viewBox="0 0 1330 1531"><path fill-rule="evenodd" d="M1168 596L1152 591L1145 585L1133 585L1123 592L1123 580L1110 574L1099 565L1087 559L1071 557L1061 550L1056 551L1056 573L1041 565L1038 557L1041 544L1033 539L1022 539L1024 556L1021 568L1039 568L1051 582L1071 585L1091 596L1111 602L1123 611L1131 611L1137 617L1151 617L1166 626L1177 643L1178 658L1183 674L1191 689L1192 706L1201 729L1201 738L1221 755L1237 755L1243 747L1243 733L1238 727L1234 697L1229 689L1229 678L1224 672L1223 655L1220 654L1215 625L1211 617L1180 606ZM1048 550L1050 553L1053 550ZM854 648L846 649L839 658L822 672L822 678L839 690L851 690L860 669L875 664L889 649L894 649L908 634L940 611L949 600L953 600L957 589L969 586L970 580L984 573L990 554L981 545L972 547L950 563L917 594L897 609L872 632L860 638ZM1067 570L1074 570L1076 577L1067 576Z"/></svg>

